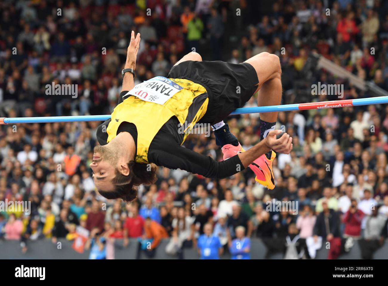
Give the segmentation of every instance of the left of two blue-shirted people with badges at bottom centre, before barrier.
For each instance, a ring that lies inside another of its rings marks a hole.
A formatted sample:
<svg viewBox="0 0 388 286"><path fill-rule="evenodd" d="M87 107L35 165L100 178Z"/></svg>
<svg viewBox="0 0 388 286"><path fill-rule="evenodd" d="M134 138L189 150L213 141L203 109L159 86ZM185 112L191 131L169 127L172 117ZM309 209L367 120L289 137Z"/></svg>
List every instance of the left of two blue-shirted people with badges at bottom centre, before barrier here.
<svg viewBox="0 0 388 286"><path fill-rule="evenodd" d="M204 234L198 238L197 249L201 259L220 259L223 247L220 239L213 235L213 226L206 223L203 226Z"/></svg>

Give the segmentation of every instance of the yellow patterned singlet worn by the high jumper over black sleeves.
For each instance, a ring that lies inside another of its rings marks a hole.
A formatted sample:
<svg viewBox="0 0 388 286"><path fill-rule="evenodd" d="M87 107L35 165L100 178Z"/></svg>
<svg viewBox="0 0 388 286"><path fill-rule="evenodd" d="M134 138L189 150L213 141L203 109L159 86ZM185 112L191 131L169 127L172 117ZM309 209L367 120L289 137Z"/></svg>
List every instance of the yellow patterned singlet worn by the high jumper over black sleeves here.
<svg viewBox="0 0 388 286"><path fill-rule="evenodd" d="M182 144L189 134L189 130L206 113L209 98L203 86L187 79L170 80L182 86L182 89L163 105L130 96L117 105L112 113L111 122L106 129L107 142L116 137L121 123L133 123L137 128L135 161L138 163L149 163L148 149L152 139L171 117L176 116L182 126L187 125ZM189 108L191 106L192 108Z"/></svg>

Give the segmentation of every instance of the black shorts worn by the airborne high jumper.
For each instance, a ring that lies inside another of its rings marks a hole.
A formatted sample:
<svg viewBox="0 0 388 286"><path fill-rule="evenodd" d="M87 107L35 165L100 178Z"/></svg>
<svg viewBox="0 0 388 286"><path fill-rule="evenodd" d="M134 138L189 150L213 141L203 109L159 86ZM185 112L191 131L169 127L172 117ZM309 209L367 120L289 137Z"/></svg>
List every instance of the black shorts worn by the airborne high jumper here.
<svg viewBox="0 0 388 286"><path fill-rule="evenodd" d="M259 80L249 63L184 61L171 68L168 78L188 79L208 91L208 110L200 123L218 123L255 93Z"/></svg>

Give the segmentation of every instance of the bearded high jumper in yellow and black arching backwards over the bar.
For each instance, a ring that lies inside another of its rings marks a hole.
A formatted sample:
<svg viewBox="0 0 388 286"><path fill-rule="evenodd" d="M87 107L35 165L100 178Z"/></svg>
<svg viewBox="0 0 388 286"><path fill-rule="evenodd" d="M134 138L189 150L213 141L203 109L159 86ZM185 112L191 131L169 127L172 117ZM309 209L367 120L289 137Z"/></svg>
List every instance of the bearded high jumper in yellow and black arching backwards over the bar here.
<svg viewBox="0 0 388 286"><path fill-rule="evenodd" d="M139 43L140 34L135 38L132 31L118 105L97 130L101 146L94 148L90 167L99 193L108 199L134 200L137 186L156 181L156 168L150 163L210 178L229 177L249 166L257 182L273 189L274 151L289 154L293 147L287 133L277 139L281 133L275 130L277 112L260 114L261 140L246 151L223 119L257 91L259 106L280 104L278 56L260 53L232 64L202 61L191 52L171 68L168 78L154 77L135 86ZM211 124L222 147L222 162L181 146L196 123ZM189 129L180 132L181 126Z"/></svg>

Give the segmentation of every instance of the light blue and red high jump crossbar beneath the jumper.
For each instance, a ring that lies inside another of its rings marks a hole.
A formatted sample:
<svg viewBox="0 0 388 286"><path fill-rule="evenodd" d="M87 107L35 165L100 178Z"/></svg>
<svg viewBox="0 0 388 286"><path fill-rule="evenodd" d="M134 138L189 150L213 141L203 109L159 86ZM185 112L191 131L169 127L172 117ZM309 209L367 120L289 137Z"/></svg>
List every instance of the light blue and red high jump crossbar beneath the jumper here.
<svg viewBox="0 0 388 286"><path fill-rule="evenodd" d="M250 114L261 112L280 112L280 111L296 111L309 109L328 109L348 106L371 105L371 104L387 104L388 96L371 97L371 98L356 98L345 100L332 100L323 102L309 102L300 104L285 104L285 105L269 105L258 107L237 108L230 115L235 114ZM15 117L15 118L0 118L1 124L13 123L51 123L51 122L78 122L78 121L105 121L111 118L111 115L83 115L83 116L45 116L45 117Z"/></svg>

